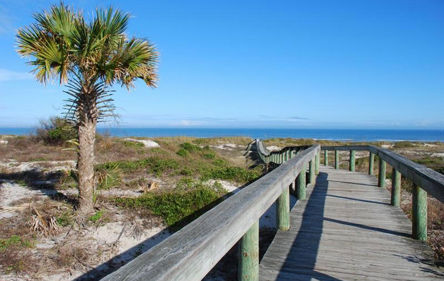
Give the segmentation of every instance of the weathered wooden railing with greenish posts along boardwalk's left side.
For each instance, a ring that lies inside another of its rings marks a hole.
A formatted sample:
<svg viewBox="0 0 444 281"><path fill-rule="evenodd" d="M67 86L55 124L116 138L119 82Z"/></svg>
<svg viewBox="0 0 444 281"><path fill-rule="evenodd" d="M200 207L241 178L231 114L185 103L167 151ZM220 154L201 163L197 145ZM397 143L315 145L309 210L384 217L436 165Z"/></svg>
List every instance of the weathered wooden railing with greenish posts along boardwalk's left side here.
<svg viewBox="0 0 444 281"><path fill-rule="evenodd" d="M238 241L239 280L258 280L259 217L276 202L276 228L288 230L290 189L296 187L297 197L304 200L307 164L310 163L310 182L314 182L315 174L319 171L318 144L302 151L298 148L297 154L296 148L291 151L285 152L286 156L280 153L279 163L282 164L272 172L102 280L199 281ZM262 155L262 152L266 155ZM272 156L276 153L263 150L258 154L261 159L265 156L270 161L278 161L276 156Z"/></svg>

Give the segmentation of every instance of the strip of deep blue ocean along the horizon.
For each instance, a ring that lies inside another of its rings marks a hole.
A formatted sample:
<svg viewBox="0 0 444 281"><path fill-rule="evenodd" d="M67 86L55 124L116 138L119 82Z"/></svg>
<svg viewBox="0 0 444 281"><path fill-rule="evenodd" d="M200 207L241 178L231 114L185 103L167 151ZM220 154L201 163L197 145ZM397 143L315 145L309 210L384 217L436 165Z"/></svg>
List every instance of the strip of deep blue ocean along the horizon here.
<svg viewBox="0 0 444 281"><path fill-rule="evenodd" d="M32 128L0 128L0 135L26 135ZM197 138L245 136L253 139L309 138L344 141L444 141L444 130L353 130L353 129L215 129L215 128L99 128L116 137Z"/></svg>

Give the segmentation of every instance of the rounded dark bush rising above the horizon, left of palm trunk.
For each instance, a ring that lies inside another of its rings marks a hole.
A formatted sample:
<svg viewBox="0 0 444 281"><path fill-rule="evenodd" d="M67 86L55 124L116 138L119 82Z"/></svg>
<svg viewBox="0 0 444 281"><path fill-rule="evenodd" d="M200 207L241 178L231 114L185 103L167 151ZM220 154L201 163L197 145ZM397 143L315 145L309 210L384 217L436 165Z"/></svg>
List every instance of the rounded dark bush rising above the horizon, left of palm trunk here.
<svg viewBox="0 0 444 281"><path fill-rule="evenodd" d="M45 144L60 145L67 140L77 139L77 131L65 119L60 117L49 117L47 120L39 120L36 129L36 140L43 140Z"/></svg>

